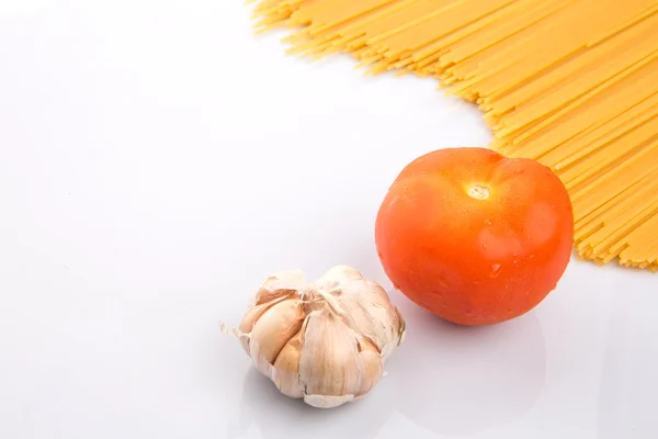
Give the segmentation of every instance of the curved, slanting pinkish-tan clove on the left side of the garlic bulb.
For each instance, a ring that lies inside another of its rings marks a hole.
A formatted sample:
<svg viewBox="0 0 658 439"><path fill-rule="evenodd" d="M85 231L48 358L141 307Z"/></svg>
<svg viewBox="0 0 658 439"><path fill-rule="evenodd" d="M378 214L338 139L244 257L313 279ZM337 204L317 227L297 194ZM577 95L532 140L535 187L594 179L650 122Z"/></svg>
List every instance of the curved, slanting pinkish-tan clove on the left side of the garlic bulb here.
<svg viewBox="0 0 658 439"><path fill-rule="evenodd" d="M271 378L272 364L291 338L302 329L304 308L299 301L285 300L268 309L249 335L249 354L258 370Z"/></svg>

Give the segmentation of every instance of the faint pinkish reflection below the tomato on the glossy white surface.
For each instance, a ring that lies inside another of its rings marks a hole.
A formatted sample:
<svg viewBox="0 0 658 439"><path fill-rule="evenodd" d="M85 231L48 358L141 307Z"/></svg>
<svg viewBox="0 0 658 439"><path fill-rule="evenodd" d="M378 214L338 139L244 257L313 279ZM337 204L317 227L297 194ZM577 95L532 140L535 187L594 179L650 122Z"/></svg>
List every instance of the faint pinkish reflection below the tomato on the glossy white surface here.
<svg viewBox="0 0 658 439"><path fill-rule="evenodd" d="M486 327L444 322L400 304L406 342L388 371L398 385L396 409L421 427L469 436L512 423L538 399L546 347L534 313Z"/></svg>

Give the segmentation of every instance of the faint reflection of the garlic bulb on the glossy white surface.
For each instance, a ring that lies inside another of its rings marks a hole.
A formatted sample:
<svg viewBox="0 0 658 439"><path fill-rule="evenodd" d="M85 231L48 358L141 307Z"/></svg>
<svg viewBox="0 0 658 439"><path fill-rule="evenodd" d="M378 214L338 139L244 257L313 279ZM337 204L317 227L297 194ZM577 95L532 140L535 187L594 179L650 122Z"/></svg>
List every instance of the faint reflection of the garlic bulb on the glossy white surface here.
<svg viewBox="0 0 658 439"><path fill-rule="evenodd" d="M364 399L331 409L315 408L302 399L282 395L256 368L245 376L239 419L227 437L243 437L257 426L263 438L376 438L393 414L394 384L382 380Z"/></svg>

